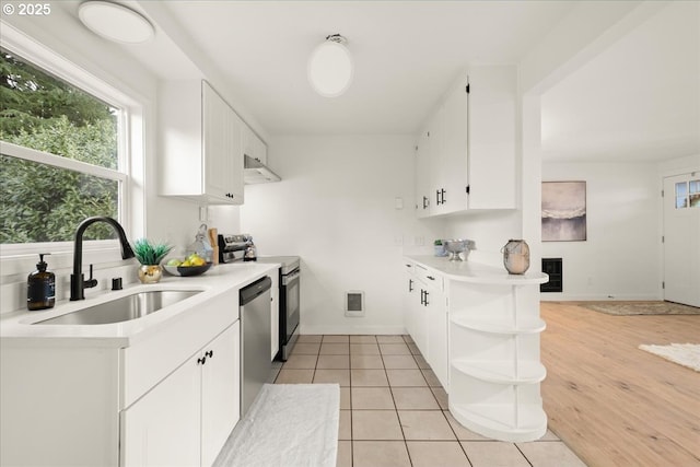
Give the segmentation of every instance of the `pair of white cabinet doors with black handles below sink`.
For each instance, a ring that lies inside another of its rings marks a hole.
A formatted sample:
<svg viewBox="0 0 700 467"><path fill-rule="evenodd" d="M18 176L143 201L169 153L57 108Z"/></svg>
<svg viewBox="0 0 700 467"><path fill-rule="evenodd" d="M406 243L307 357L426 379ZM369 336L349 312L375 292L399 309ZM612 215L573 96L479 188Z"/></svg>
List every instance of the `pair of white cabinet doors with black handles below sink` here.
<svg viewBox="0 0 700 467"><path fill-rule="evenodd" d="M213 464L240 418L240 323L121 412L121 465Z"/></svg>

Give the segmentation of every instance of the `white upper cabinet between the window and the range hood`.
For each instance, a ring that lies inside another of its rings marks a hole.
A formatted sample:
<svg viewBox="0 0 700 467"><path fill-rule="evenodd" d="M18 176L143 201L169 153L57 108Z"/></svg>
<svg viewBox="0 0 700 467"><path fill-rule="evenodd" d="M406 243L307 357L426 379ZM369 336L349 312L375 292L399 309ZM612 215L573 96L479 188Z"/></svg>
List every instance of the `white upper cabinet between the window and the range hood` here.
<svg viewBox="0 0 700 467"><path fill-rule="evenodd" d="M247 126L229 104L206 81L165 81L159 112L161 195L242 205Z"/></svg>

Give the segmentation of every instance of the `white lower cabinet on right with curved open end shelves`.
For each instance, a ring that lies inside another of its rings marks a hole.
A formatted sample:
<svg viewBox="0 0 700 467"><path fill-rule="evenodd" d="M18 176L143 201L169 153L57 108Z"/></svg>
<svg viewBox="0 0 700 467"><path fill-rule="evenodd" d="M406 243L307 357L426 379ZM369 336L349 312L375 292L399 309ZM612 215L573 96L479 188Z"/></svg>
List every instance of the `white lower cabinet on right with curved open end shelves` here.
<svg viewBox="0 0 700 467"><path fill-rule="evenodd" d="M447 392L455 420L495 440L541 437L539 284L547 276L434 257L405 264L406 328Z"/></svg>

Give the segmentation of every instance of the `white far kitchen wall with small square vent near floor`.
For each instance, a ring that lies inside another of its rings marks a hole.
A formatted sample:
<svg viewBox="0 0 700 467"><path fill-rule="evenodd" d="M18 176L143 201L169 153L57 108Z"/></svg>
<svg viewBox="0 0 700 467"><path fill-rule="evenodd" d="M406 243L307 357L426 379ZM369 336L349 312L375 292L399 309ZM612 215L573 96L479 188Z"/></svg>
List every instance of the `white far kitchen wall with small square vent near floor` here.
<svg viewBox="0 0 700 467"><path fill-rule="evenodd" d="M415 138L278 137L268 143L268 162L282 182L246 186L241 227L259 255L301 256L301 332L402 332L401 256L430 254L443 234L443 221L415 215ZM396 198L404 209L396 209ZM364 291L364 317L345 317L351 290Z"/></svg>

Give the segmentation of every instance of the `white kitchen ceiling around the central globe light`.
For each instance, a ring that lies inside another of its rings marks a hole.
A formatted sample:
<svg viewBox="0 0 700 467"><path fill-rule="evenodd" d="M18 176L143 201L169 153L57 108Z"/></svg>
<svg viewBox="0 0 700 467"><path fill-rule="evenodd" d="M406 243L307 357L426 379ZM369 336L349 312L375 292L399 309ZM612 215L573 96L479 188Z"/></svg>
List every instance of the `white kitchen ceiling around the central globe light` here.
<svg viewBox="0 0 700 467"><path fill-rule="evenodd" d="M138 4L156 23L172 16L180 31L168 27L167 34L206 54L268 133L386 135L417 132L467 63L517 62L574 3L182 0ZM314 47L336 33L348 39L355 71L347 93L326 98L311 89L306 65ZM148 58L143 61L149 66ZM162 63L154 71L160 74L167 70Z"/></svg>

